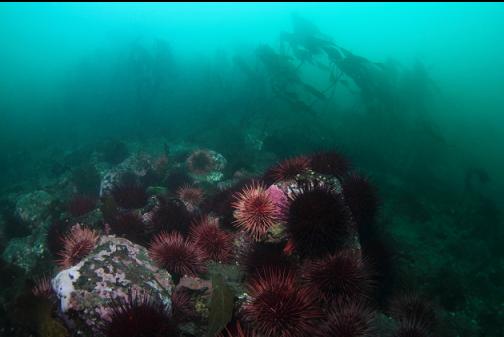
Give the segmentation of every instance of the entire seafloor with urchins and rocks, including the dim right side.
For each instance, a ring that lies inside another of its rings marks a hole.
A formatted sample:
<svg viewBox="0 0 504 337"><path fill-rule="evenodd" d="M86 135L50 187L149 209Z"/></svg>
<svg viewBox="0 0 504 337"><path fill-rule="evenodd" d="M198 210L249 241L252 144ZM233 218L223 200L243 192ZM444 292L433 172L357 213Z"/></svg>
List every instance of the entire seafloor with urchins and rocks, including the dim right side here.
<svg viewBox="0 0 504 337"><path fill-rule="evenodd" d="M482 195L247 151L247 168L162 139L42 154L2 193L1 335L501 335Z"/></svg>

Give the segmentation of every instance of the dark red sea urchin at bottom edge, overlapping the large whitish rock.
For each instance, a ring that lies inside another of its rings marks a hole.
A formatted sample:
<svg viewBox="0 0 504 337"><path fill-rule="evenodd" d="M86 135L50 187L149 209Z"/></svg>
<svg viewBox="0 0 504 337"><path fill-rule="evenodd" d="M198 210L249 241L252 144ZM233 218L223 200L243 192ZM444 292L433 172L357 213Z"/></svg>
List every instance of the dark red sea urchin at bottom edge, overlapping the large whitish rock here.
<svg viewBox="0 0 504 337"><path fill-rule="evenodd" d="M149 295L134 294L112 302L110 319L103 326L106 337L174 337L166 305Z"/></svg>

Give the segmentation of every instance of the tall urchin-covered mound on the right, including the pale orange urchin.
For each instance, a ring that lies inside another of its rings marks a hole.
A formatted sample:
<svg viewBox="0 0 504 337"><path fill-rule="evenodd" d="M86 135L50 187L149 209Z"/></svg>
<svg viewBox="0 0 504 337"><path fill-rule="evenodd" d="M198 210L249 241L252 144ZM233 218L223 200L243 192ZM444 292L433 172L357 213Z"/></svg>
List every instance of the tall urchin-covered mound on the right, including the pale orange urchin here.
<svg viewBox="0 0 504 337"><path fill-rule="evenodd" d="M295 157L235 193L234 224L252 242L239 260L248 274L248 297L236 317L247 330L238 325L239 333L223 335L382 333L373 299L380 270L359 242L359 233L374 224L378 200L368 179L349 168L334 152ZM425 323L426 307L417 314L408 313L408 305L395 307L393 334L426 336L432 327Z"/></svg>

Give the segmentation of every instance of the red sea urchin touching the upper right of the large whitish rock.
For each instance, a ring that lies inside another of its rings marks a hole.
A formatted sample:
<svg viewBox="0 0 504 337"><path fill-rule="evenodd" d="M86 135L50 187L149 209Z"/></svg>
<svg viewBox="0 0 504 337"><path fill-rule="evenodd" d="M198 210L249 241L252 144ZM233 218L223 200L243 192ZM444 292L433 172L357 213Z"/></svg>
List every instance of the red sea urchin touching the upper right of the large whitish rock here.
<svg viewBox="0 0 504 337"><path fill-rule="evenodd" d="M176 276L195 276L204 271L203 253L178 232L162 232L154 237L149 255L160 267Z"/></svg>

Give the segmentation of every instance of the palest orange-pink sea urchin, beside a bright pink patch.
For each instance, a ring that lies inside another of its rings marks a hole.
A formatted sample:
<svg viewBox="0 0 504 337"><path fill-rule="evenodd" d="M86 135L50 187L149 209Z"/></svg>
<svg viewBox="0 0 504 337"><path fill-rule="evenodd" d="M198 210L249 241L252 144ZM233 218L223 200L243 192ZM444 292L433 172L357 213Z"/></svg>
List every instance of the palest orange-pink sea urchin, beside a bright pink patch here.
<svg viewBox="0 0 504 337"><path fill-rule="evenodd" d="M253 182L235 194L235 226L260 240L268 229L281 220L282 210L275 204L264 185Z"/></svg>

